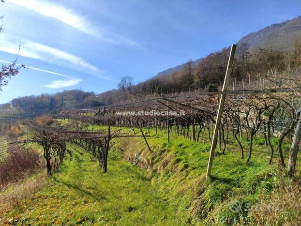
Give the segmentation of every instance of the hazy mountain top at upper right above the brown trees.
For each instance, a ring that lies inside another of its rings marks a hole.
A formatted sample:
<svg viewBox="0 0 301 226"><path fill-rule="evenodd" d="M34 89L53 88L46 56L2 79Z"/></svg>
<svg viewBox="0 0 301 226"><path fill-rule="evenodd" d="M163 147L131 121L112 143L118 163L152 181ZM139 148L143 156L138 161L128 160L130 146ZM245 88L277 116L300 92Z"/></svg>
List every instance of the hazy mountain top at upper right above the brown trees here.
<svg viewBox="0 0 301 226"><path fill-rule="evenodd" d="M295 42L301 41L301 16L283 23L272 24L264 29L252 32L237 43L248 43L249 49L273 46L282 49L293 48Z"/></svg>

